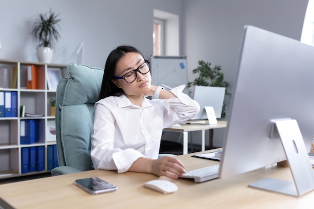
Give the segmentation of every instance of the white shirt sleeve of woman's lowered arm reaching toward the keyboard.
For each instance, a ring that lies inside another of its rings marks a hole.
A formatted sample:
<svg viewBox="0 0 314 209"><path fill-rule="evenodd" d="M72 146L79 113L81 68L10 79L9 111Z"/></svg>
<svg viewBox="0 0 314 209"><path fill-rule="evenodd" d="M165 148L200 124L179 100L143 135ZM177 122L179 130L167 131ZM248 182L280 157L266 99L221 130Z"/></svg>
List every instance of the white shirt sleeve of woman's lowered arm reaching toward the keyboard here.
<svg viewBox="0 0 314 209"><path fill-rule="evenodd" d="M135 149L114 148L114 117L101 103L95 105L91 159L95 169L126 172L143 155Z"/></svg>

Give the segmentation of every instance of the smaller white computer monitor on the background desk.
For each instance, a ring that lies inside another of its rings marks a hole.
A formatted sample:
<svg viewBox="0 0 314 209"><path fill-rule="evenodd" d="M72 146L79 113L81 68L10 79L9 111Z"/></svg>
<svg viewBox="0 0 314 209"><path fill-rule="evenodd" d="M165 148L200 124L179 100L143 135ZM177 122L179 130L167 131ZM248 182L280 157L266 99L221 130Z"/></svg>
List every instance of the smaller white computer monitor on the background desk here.
<svg viewBox="0 0 314 209"><path fill-rule="evenodd" d="M225 91L225 87L195 86L193 99L200 104L200 112L191 120L207 119L206 106L213 107L216 118L221 118Z"/></svg>

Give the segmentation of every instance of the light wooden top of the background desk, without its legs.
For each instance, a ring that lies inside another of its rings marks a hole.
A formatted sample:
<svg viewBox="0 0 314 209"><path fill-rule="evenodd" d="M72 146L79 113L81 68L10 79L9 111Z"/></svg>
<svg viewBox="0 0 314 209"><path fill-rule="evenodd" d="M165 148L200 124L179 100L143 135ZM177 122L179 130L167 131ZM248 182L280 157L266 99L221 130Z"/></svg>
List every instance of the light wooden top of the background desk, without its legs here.
<svg viewBox="0 0 314 209"><path fill-rule="evenodd" d="M214 128L225 128L227 127L227 121L218 120L217 125L208 125L208 124L180 124L180 126L172 126L165 128L169 131L201 131Z"/></svg>

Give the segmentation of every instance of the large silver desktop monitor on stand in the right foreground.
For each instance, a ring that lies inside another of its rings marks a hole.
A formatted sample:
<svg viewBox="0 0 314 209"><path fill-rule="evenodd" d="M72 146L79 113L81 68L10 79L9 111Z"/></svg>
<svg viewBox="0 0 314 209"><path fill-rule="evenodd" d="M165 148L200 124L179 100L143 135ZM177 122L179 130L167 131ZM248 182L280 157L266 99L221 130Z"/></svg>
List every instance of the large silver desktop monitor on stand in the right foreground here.
<svg viewBox="0 0 314 209"><path fill-rule="evenodd" d="M313 189L314 47L245 26L229 116L220 178L288 159L294 183L251 186L295 196Z"/></svg>

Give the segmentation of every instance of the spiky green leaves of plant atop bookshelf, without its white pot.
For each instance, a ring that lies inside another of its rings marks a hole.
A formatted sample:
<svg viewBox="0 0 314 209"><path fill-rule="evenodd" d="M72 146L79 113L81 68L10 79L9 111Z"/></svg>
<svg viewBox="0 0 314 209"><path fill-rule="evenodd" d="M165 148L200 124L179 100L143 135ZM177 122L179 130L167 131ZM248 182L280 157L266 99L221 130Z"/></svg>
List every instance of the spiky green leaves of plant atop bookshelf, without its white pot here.
<svg viewBox="0 0 314 209"><path fill-rule="evenodd" d="M51 10L46 14L38 14L32 31L33 36L39 42L38 47L54 47L60 38L58 25L60 21L61 19L58 19L58 15Z"/></svg>

